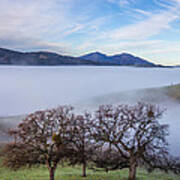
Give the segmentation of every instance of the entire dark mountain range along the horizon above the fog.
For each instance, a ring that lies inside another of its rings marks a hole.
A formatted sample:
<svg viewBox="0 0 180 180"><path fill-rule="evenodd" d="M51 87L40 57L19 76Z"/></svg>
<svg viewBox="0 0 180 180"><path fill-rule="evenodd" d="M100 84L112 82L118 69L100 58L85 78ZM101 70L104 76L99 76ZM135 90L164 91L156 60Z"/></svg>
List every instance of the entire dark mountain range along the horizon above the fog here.
<svg viewBox="0 0 180 180"><path fill-rule="evenodd" d="M98 66L135 66L135 67L165 67L152 62L122 53L114 56L95 52L81 57L63 56L52 52L18 52L0 48L0 65L98 65Z"/></svg>

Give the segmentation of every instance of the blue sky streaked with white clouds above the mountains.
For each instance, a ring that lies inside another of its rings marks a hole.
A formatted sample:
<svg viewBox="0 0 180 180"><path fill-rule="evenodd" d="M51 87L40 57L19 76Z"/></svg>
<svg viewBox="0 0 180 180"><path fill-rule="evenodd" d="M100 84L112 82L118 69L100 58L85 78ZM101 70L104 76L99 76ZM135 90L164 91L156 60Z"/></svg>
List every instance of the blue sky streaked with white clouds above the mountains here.
<svg viewBox="0 0 180 180"><path fill-rule="evenodd" d="M0 0L0 47L180 64L180 0Z"/></svg>

